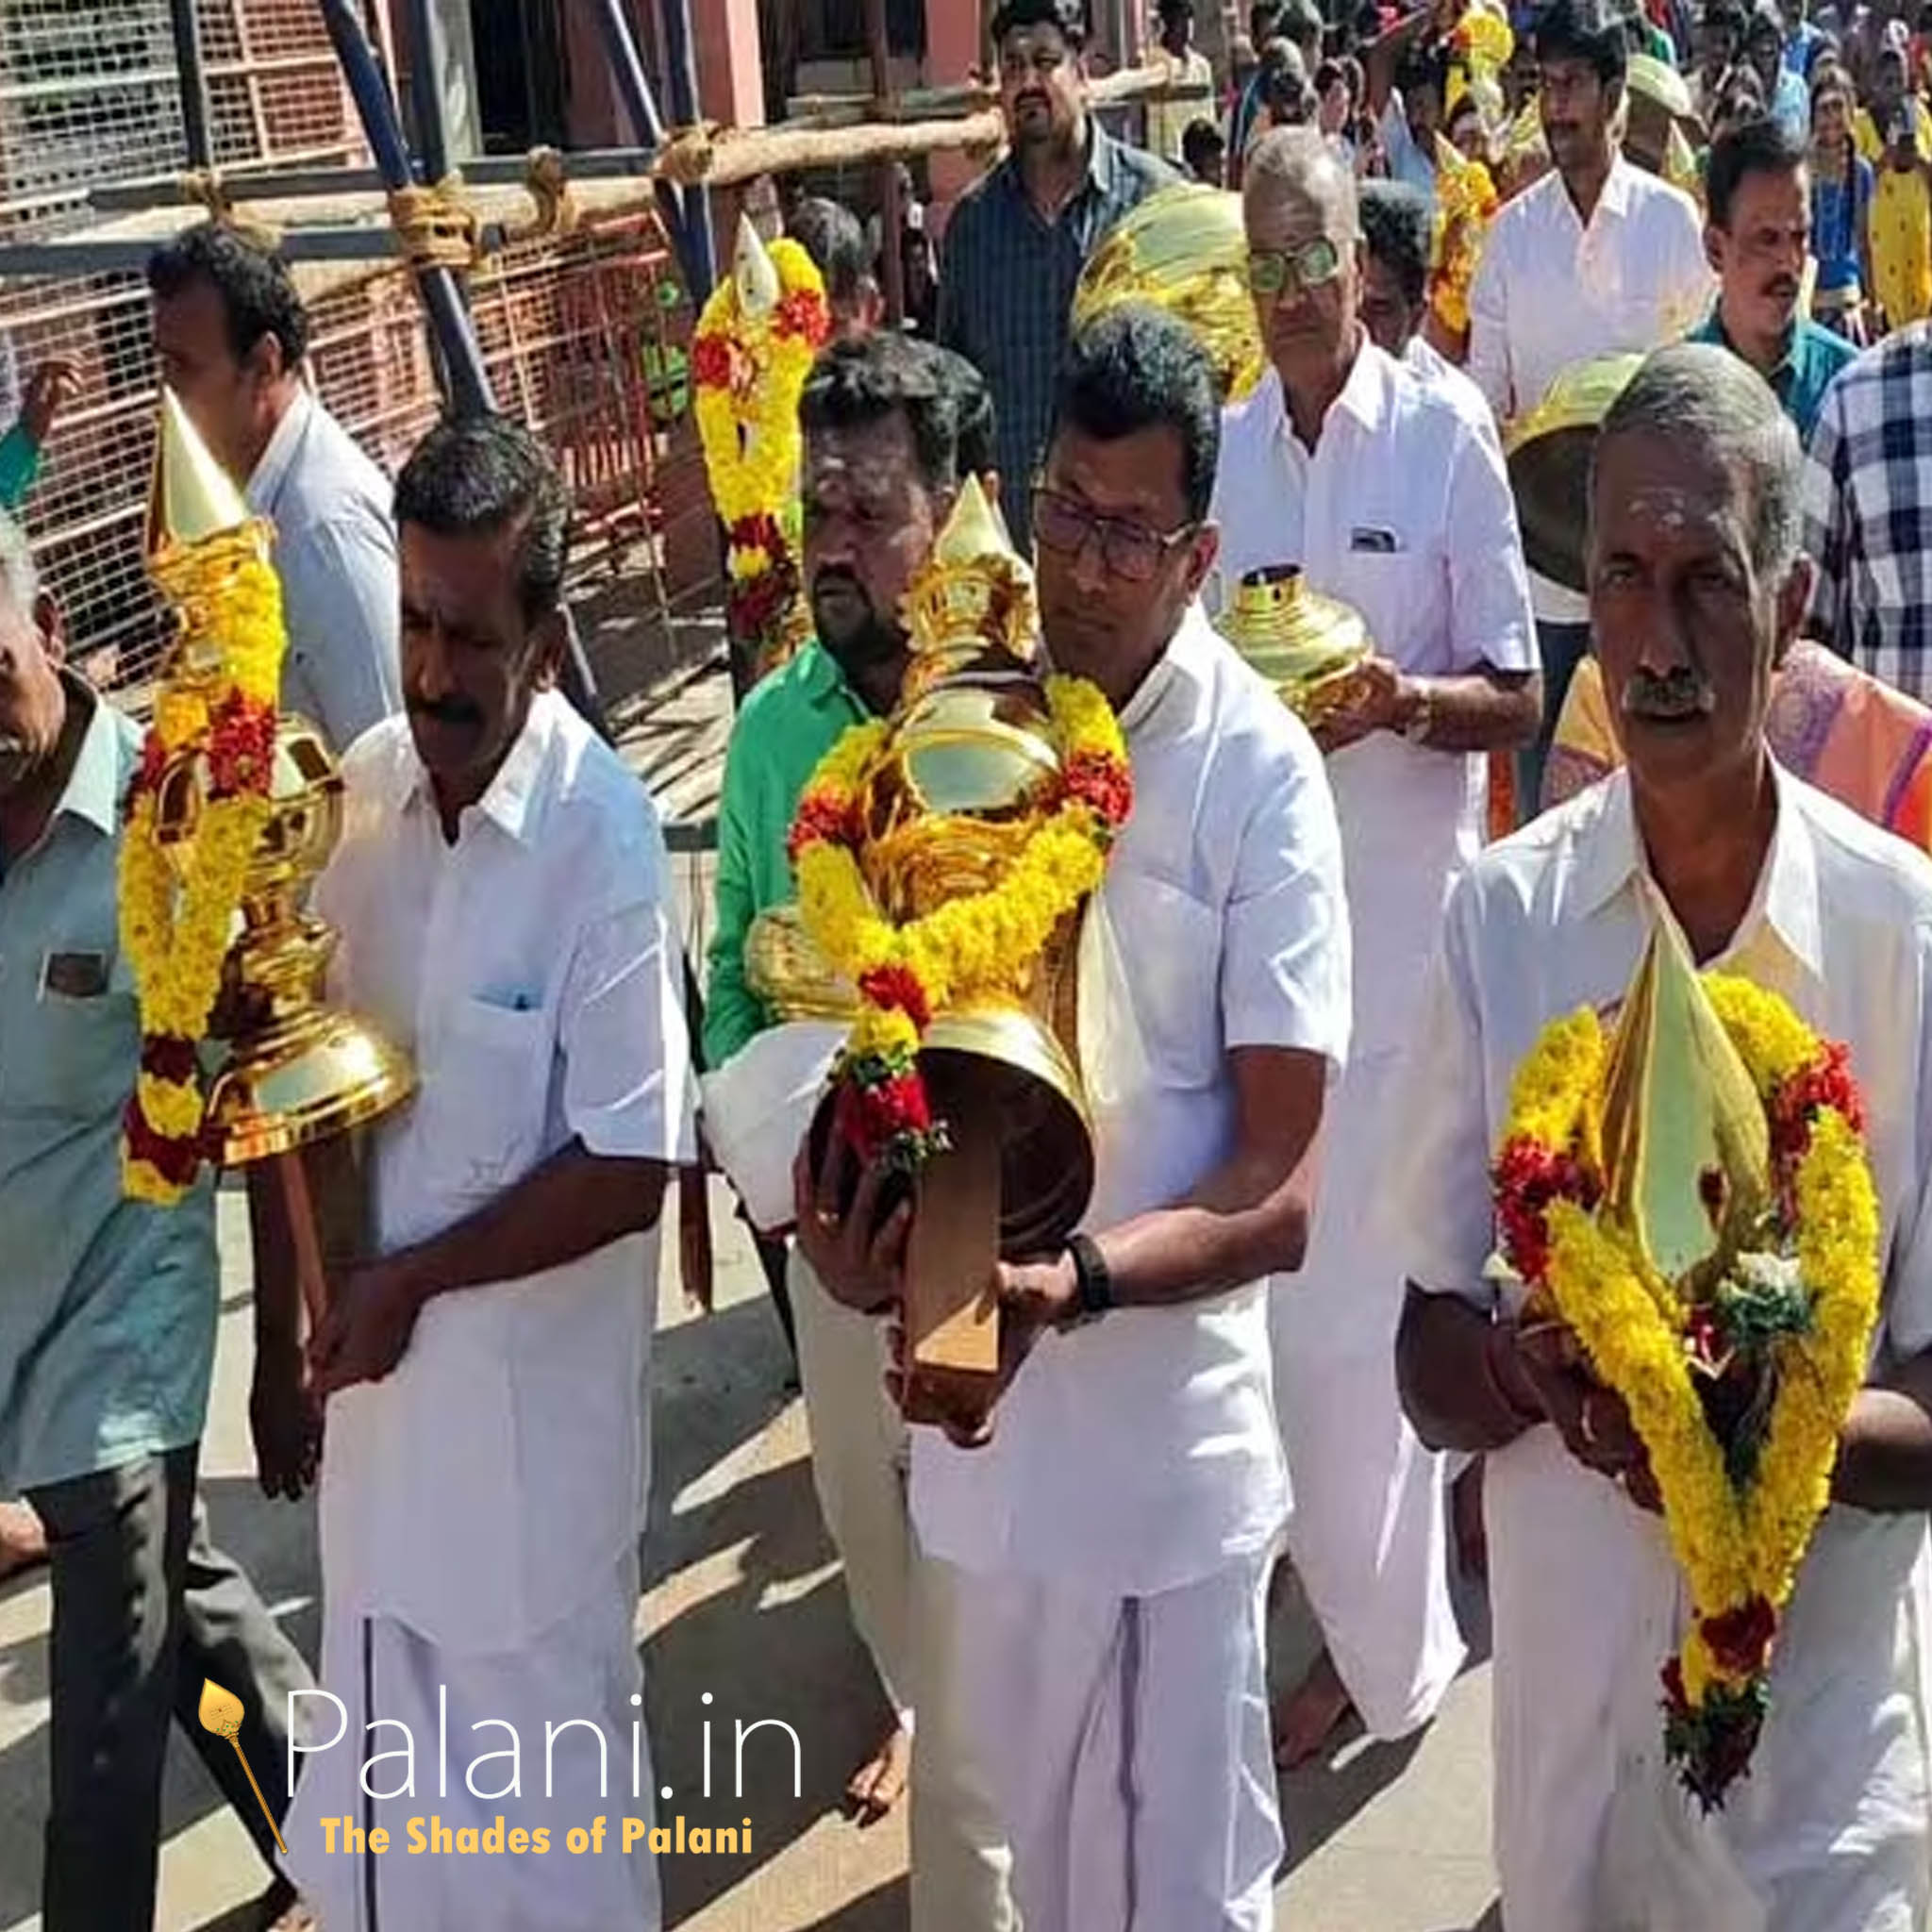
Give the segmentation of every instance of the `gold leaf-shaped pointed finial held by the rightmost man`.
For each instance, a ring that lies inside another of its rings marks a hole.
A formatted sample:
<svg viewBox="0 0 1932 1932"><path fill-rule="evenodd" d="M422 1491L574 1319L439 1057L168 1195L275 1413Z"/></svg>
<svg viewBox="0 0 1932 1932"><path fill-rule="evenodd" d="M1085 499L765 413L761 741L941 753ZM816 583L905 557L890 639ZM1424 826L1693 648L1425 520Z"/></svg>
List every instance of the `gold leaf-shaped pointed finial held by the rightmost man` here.
<svg viewBox="0 0 1932 1932"><path fill-rule="evenodd" d="M1750 1070L1677 922L1654 910L1604 1078L1602 1213L1696 1298L1772 1204L1772 1148Z"/></svg>

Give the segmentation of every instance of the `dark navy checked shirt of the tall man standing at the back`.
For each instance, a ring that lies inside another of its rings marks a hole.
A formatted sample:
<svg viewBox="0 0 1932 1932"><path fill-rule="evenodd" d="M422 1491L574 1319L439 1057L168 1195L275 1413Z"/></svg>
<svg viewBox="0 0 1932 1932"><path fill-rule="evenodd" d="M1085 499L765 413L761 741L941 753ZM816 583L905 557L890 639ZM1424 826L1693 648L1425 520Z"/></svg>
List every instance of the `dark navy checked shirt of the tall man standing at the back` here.
<svg viewBox="0 0 1932 1932"><path fill-rule="evenodd" d="M1128 209L1179 180L1167 162L1117 141L1092 116L1088 128L1086 180L1057 220L1039 218L1009 155L960 197L947 222L939 340L978 363L993 392L1001 504L1022 549L1034 524L1034 469L1053 429L1066 361L1074 282Z"/></svg>

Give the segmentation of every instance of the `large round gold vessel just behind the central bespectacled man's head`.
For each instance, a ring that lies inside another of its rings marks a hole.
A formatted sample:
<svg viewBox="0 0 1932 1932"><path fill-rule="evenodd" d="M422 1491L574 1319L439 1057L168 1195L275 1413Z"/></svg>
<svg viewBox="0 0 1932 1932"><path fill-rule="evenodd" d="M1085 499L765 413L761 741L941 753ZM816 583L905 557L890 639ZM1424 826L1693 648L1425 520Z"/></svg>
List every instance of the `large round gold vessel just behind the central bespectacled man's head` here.
<svg viewBox="0 0 1932 1932"><path fill-rule="evenodd" d="M1167 309L1186 323L1229 402L1260 383L1265 355L1248 294L1240 195L1182 182L1121 216L1080 270L1072 327L1084 328L1126 301Z"/></svg>

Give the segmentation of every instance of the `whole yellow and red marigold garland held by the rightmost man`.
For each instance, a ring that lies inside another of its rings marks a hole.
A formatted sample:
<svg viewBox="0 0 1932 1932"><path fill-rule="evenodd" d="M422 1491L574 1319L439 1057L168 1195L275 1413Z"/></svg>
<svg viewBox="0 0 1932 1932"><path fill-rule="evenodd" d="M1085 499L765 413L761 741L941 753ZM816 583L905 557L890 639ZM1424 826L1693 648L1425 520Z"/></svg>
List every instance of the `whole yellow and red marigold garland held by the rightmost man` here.
<svg viewBox="0 0 1932 1932"><path fill-rule="evenodd" d="M1799 1320L1768 1343L1776 1393L1748 1480L1733 1480L1727 1443L1698 1395L1694 1360L1721 1331L1719 1314L1685 1302L1633 1240L1592 1213L1607 1065L1594 1012L1548 1026L1519 1068L1493 1186L1505 1258L1575 1331L1648 1451L1694 1605L1663 1665L1665 1747L1710 1810L1756 1747L1777 1617L1864 1383L1880 1219L1845 1049L1747 980L1706 974L1704 987L1764 1103L1776 1221L1801 1300Z"/></svg>

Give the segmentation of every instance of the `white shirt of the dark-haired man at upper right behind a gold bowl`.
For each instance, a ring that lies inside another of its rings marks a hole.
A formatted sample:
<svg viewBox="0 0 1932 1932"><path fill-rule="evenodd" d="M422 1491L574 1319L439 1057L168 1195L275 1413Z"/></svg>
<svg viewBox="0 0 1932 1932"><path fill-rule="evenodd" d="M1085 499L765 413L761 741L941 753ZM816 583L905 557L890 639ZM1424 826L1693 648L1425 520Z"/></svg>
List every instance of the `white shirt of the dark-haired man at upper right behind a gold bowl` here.
<svg viewBox="0 0 1932 1932"><path fill-rule="evenodd" d="M1681 187L1619 155L1586 228L1549 172L1490 222L1468 292L1468 373L1509 423L1573 363L1675 342L1716 294L1704 218ZM1532 587L1544 622L1588 622L1575 591Z"/></svg>

